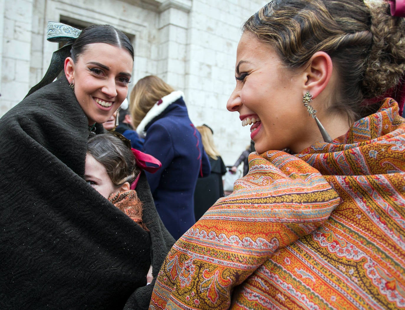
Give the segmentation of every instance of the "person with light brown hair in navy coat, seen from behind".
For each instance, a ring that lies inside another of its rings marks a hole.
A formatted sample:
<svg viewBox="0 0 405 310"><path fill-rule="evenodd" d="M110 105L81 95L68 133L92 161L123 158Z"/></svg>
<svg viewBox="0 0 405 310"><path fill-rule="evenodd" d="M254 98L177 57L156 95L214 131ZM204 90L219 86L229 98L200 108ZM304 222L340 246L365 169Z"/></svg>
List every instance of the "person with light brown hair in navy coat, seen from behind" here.
<svg viewBox="0 0 405 310"><path fill-rule="evenodd" d="M158 172L146 173L147 180L160 218L175 239L195 223L197 179L211 171L183 97L155 75L139 80L130 97L132 123L145 138L143 151L162 163Z"/></svg>

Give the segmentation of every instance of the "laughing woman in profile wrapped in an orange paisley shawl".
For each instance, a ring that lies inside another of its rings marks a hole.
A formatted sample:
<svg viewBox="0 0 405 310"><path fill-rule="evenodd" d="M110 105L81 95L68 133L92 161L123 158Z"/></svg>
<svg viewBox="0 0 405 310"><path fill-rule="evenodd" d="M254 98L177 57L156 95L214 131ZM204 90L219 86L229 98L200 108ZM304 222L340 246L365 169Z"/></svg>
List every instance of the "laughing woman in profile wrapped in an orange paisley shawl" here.
<svg viewBox="0 0 405 310"><path fill-rule="evenodd" d="M245 22L227 108L257 153L175 243L149 309L405 308L405 21L390 9L273 0Z"/></svg>

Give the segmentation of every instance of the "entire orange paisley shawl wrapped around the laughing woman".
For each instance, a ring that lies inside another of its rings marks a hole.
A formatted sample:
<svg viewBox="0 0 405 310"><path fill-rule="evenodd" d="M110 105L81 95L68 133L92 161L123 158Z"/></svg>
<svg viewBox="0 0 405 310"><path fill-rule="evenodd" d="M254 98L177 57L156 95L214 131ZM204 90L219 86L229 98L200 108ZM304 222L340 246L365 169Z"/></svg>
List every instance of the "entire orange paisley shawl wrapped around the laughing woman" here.
<svg viewBox="0 0 405 310"><path fill-rule="evenodd" d="M404 138L386 99L333 143L251 154L171 249L149 309L405 308Z"/></svg>

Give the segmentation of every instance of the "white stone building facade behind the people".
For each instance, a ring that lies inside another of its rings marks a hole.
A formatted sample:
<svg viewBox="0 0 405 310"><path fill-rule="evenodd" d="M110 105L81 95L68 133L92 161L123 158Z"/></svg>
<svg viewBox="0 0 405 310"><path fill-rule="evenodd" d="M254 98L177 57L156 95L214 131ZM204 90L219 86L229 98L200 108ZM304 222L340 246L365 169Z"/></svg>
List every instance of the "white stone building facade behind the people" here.
<svg viewBox="0 0 405 310"><path fill-rule="evenodd" d="M266 0L0 0L0 116L46 72L57 43L48 21L80 27L111 24L134 45L132 85L155 74L185 93L194 125L206 123L226 165L250 142L232 92L240 27ZM130 88L132 88L130 85Z"/></svg>

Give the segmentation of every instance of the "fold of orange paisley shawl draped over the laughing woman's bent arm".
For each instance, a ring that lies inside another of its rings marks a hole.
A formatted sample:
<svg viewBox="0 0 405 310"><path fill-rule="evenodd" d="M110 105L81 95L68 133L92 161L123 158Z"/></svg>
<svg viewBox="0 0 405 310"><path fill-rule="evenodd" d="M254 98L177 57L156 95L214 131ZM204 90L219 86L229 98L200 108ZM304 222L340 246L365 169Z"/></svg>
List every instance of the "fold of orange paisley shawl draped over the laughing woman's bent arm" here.
<svg viewBox="0 0 405 310"><path fill-rule="evenodd" d="M228 308L235 286L323 224L339 202L305 161L283 152L251 155L250 172L234 192L218 200L166 257L151 309Z"/></svg>

